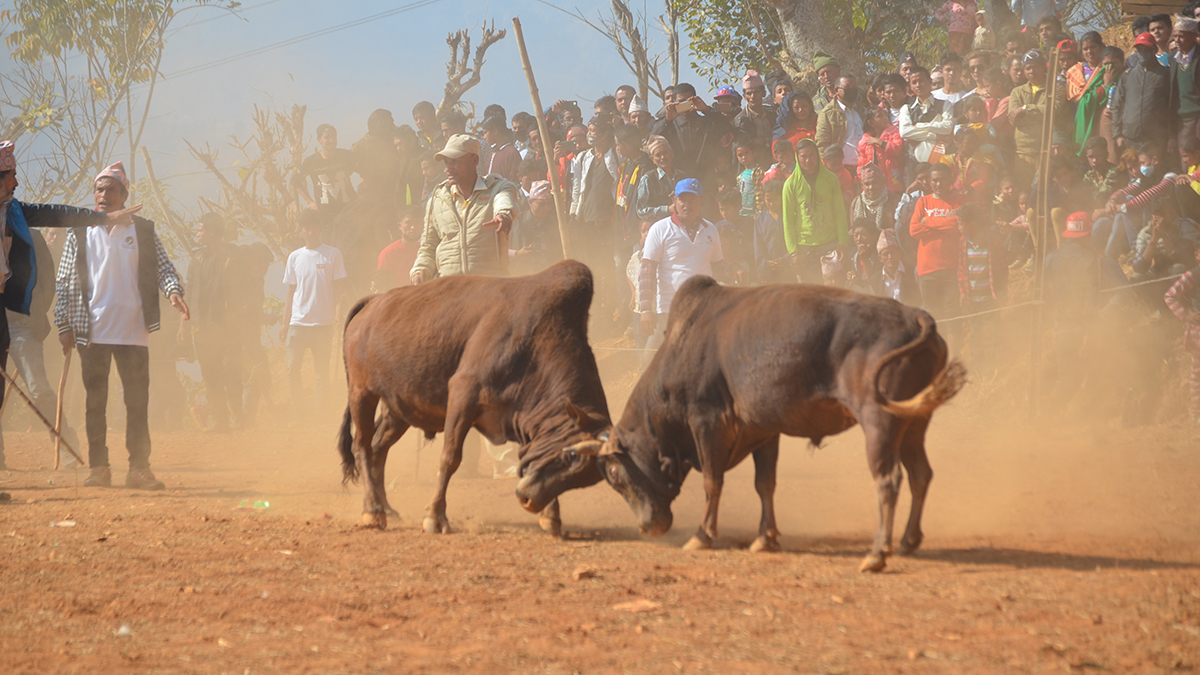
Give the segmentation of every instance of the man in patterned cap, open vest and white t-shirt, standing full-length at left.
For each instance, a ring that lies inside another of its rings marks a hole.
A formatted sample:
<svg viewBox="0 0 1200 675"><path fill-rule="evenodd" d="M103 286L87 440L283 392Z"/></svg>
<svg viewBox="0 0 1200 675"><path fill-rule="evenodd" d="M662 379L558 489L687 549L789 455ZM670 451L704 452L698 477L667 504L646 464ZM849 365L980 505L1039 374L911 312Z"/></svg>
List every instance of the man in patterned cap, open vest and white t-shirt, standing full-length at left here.
<svg viewBox="0 0 1200 675"><path fill-rule="evenodd" d="M120 211L130 195L121 162L96 177L92 196L100 213ZM316 211L306 211L320 228ZM175 265L149 220L107 227L73 228L67 233L56 277L59 327L62 352L79 350L79 366L86 390L88 488L110 488L108 465L108 375L113 360L125 388L125 444L130 472L125 486L162 490L150 472L150 333L158 330L157 291L162 291L184 321L190 318L184 286Z"/></svg>

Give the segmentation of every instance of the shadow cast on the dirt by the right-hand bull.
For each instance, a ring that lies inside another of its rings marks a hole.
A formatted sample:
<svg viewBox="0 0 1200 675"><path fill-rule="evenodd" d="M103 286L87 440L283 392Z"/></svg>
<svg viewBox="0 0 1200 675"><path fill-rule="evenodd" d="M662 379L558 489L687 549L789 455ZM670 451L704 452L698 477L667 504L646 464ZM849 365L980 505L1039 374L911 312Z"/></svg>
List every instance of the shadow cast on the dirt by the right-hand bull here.
<svg viewBox="0 0 1200 675"><path fill-rule="evenodd" d="M740 533L739 533L740 534ZM749 545L752 536L732 537L732 542ZM826 557L858 558L871 545L870 539L851 539L836 537L780 537L782 555L817 555ZM1012 569L1068 569L1073 572L1094 572L1100 569L1200 569L1200 563L1171 562L1139 557L1115 557L1104 555L1075 555L1056 551L1016 549L1007 546L970 546L970 548L922 548L913 556L889 557L894 567L899 561L937 561L954 565L996 566Z"/></svg>

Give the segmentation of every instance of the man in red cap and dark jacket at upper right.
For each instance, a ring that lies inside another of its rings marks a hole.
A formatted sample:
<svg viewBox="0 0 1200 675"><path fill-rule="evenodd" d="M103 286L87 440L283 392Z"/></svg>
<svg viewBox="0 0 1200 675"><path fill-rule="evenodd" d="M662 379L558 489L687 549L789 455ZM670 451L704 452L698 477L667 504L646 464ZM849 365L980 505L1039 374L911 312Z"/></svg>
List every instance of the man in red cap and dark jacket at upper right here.
<svg viewBox="0 0 1200 675"><path fill-rule="evenodd" d="M1154 37L1148 32L1134 42L1136 64L1121 77L1112 97L1112 139L1117 150L1142 143L1166 147L1176 124L1176 110L1166 103L1171 70L1154 58Z"/></svg>

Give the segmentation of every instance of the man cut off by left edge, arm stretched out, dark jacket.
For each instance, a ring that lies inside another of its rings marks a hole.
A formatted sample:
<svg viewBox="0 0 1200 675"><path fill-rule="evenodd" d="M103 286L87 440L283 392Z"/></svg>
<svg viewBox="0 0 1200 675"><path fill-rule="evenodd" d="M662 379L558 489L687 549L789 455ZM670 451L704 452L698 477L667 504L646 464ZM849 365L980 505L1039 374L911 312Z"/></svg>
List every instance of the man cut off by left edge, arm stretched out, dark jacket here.
<svg viewBox="0 0 1200 675"><path fill-rule="evenodd" d="M94 225L127 222L131 214L142 209L142 204L128 209L113 209L112 213L96 213L61 204L25 204L13 198L20 183L17 180L16 145L11 141L0 142L0 233L4 240L0 246L0 297L4 298L5 311L0 312L0 368L8 366L11 338L8 333L8 313L13 316L30 315L30 305L35 303L35 288L38 277L38 265L50 268L53 261L42 249L41 255L35 249L30 234L31 227L86 227ZM47 300L48 301L48 300ZM25 319L28 321L28 319ZM18 350L13 350L17 352ZM23 353L24 350L20 350ZM18 357L20 359L22 357ZM38 359L41 360L41 359ZM22 369L26 384L31 388L38 406L46 401L53 407L53 393L49 400L40 394L31 382L35 378ZM44 366L43 375L44 380ZM0 383L2 384L2 383ZM4 387L0 387L0 406L4 405ZM0 447L0 470L6 468L4 449Z"/></svg>

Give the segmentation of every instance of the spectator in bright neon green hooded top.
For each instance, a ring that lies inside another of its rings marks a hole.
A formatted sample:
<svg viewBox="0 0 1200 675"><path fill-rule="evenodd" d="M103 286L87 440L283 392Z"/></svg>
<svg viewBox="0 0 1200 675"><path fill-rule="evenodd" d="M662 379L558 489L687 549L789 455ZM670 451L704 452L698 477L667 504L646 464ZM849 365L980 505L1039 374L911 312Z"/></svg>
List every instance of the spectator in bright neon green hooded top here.
<svg viewBox="0 0 1200 675"><path fill-rule="evenodd" d="M821 256L850 249L841 185L811 139L797 144L796 171L784 184L784 241L802 283L822 283Z"/></svg>

